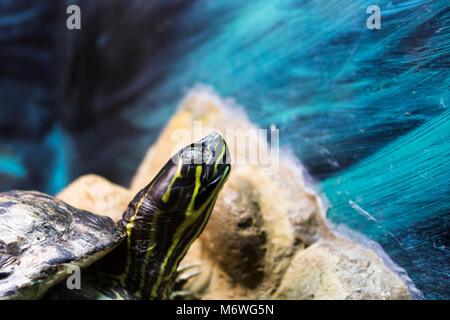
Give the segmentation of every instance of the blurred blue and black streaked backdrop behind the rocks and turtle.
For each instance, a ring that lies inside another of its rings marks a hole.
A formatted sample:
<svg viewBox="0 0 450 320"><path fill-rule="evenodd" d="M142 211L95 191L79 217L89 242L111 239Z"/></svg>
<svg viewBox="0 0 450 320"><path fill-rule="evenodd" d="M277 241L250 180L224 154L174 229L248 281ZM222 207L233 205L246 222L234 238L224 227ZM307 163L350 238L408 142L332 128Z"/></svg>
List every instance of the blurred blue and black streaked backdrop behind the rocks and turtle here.
<svg viewBox="0 0 450 320"><path fill-rule="evenodd" d="M128 185L206 84L280 129L331 221L450 298L446 1L377 1L380 30L372 1L74 2L82 31L64 31L64 2L0 3L2 190L54 194L91 172Z"/></svg>

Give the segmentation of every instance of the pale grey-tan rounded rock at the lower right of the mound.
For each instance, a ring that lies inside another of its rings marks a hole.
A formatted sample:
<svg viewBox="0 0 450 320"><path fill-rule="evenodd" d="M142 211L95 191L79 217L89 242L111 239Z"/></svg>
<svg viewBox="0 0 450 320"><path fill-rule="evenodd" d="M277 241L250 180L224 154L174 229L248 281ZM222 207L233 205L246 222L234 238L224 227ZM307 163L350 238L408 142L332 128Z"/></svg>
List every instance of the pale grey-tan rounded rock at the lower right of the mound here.
<svg viewBox="0 0 450 320"><path fill-rule="evenodd" d="M336 238L298 251L274 298L410 299L410 294L372 251Z"/></svg>

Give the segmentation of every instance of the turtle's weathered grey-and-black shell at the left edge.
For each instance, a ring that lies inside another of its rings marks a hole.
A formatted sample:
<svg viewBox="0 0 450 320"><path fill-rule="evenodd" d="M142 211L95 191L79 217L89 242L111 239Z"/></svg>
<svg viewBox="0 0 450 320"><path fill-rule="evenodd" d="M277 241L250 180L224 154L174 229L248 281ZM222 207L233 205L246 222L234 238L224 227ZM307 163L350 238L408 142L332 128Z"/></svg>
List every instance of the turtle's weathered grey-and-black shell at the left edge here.
<svg viewBox="0 0 450 320"><path fill-rule="evenodd" d="M0 299L37 299L125 238L112 219L35 191L0 193Z"/></svg>

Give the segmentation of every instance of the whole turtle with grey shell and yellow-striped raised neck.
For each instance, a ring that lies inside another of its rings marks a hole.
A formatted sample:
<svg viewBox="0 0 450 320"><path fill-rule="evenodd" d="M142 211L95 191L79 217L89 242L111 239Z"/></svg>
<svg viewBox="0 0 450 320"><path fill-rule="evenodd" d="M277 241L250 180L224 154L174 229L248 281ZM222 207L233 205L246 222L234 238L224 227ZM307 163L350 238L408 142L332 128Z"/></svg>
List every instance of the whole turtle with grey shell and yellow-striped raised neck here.
<svg viewBox="0 0 450 320"><path fill-rule="evenodd" d="M172 156L117 223L38 191L0 193L0 299L174 298L230 170L210 134Z"/></svg>

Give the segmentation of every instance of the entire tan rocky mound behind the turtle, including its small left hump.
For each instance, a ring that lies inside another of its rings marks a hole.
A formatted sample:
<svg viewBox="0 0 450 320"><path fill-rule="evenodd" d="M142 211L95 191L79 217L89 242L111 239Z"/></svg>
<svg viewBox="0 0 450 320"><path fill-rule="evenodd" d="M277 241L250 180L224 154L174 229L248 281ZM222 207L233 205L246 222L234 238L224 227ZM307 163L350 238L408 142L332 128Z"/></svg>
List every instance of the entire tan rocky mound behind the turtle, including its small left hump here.
<svg viewBox="0 0 450 320"><path fill-rule="evenodd" d="M203 262L202 274L188 283L199 297L410 298L406 285L375 253L328 229L320 198L304 185L295 159L280 154L277 162L278 155L269 154L264 160L276 163L273 167L239 161L238 147L267 148L265 138L249 135L243 141L227 134L227 129L239 128L256 129L232 101L221 100L205 89L194 90L147 152L131 183L131 192L101 178L95 183L85 183L86 178L81 178L60 197L117 220L112 206L122 212L126 207L123 203L128 203L171 155L214 129L225 137L233 162L210 222L182 262ZM241 131L240 135L245 133ZM275 173L267 174L271 170ZM109 199L106 204L104 199Z"/></svg>

